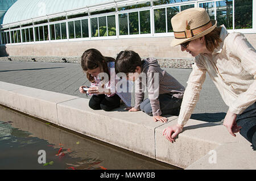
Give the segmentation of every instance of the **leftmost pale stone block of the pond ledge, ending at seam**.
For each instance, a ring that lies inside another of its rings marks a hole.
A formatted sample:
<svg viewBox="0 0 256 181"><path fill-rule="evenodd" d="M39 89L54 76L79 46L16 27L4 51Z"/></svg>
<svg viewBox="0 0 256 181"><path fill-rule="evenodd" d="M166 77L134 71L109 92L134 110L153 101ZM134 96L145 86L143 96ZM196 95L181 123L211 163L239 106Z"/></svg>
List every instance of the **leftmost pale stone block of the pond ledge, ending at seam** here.
<svg viewBox="0 0 256 181"><path fill-rule="evenodd" d="M79 97L0 82L0 104L57 123L56 104Z"/></svg>

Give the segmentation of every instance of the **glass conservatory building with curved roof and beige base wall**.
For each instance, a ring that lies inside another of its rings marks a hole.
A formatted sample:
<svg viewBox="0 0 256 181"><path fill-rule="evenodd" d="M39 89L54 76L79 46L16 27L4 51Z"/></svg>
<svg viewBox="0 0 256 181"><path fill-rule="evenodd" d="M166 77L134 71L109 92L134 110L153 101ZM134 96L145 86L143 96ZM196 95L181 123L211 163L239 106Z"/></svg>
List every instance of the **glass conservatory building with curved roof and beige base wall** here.
<svg viewBox="0 0 256 181"><path fill-rule="evenodd" d="M170 43L171 18L191 7L203 7L218 26L244 33L256 47L256 0L18 0L1 18L0 55L81 57L96 48L112 57L128 49L189 59Z"/></svg>

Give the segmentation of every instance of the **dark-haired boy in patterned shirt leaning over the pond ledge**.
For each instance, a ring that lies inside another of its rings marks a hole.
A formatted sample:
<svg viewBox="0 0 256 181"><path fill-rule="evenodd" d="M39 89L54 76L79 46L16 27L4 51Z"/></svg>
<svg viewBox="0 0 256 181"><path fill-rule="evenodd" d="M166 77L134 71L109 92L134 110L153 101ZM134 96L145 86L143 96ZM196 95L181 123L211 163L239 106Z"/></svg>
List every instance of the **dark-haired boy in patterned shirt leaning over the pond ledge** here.
<svg viewBox="0 0 256 181"><path fill-rule="evenodd" d="M161 115L179 115L185 88L153 58L141 60L138 53L121 51L115 61L116 73L125 73L135 82L135 106L129 111L139 111L153 116L154 121L167 122ZM143 81L144 80L144 81ZM147 87L148 98L144 99Z"/></svg>

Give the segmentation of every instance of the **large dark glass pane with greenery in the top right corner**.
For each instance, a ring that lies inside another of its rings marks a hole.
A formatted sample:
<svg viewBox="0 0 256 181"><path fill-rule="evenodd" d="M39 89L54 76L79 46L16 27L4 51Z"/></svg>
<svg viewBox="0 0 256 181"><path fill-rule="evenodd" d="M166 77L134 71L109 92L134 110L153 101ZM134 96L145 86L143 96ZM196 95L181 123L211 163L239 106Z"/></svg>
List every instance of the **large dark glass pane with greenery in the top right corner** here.
<svg viewBox="0 0 256 181"><path fill-rule="evenodd" d="M253 28L253 0L236 0L234 8L235 29Z"/></svg>

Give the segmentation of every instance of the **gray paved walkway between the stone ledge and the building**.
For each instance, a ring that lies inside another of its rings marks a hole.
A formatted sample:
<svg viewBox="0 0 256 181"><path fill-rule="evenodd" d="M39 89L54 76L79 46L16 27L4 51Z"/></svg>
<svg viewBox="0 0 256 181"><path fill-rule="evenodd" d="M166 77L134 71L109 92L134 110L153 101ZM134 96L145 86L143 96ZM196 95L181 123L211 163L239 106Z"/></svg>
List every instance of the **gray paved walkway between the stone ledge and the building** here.
<svg viewBox="0 0 256 181"><path fill-rule="evenodd" d="M184 87L187 86L191 69L163 69L175 77ZM86 97L79 92L81 85L90 85L80 64L0 61L0 81L90 98L90 96ZM134 104L134 96L132 103ZM226 111L228 111L228 106L223 102L220 93L207 74L199 102L191 119L222 123Z"/></svg>

